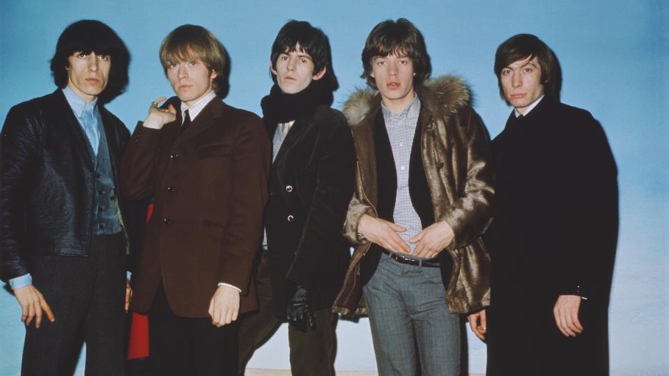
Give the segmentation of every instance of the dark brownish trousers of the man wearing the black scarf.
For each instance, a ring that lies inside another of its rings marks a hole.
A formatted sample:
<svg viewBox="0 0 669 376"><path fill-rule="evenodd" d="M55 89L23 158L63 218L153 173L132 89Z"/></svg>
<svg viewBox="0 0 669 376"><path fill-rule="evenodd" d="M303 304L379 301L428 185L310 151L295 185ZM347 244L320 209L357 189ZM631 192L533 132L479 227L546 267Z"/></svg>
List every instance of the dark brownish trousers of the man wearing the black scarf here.
<svg viewBox="0 0 669 376"><path fill-rule="evenodd" d="M244 375L254 351L266 343L281 325L272 309L272 280L266 251L256 272L256 294L258 311L247 313L240 319L239 375ZM325 308L314 311L314 319L316 329L313 330L300 331L292 325L288 327L293 376L334 376L337 315L330 308Z"/></svg>

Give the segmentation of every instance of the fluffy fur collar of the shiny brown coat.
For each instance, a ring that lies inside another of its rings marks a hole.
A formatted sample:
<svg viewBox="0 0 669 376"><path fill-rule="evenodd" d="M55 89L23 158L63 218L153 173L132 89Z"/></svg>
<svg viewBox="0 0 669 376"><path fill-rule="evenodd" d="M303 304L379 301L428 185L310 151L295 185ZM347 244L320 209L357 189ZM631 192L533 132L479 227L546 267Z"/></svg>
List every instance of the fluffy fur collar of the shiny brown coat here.
<svg viewBox="0 0 669 376"><path fill-rule="evenodd" d="M422 106L430 111L455 113L463 106L471 105L471 93L463 79L455 75L445 75L430 79L417 88ZM380 107L381 97L371 88L358 89L344 103L344 115L348 124L362 123L362 120Z"/></svg>

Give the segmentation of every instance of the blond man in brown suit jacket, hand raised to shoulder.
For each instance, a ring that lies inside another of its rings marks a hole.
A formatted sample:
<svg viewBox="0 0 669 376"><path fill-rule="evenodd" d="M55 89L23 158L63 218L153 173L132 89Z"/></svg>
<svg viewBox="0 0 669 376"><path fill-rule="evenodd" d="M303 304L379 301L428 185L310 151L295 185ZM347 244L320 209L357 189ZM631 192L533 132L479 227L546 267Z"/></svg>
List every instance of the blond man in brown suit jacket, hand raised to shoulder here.
<svg viewBox="0 0 669 376"><path fill-rule="evenodd" d="M256 305L269 143L258 116L217 96L229 65L207 29L179 26L160 60L178 99L151 104L121 165L128 197L155 196L131 307L148 312L155 375L236 375L235 320Z"/></svg>

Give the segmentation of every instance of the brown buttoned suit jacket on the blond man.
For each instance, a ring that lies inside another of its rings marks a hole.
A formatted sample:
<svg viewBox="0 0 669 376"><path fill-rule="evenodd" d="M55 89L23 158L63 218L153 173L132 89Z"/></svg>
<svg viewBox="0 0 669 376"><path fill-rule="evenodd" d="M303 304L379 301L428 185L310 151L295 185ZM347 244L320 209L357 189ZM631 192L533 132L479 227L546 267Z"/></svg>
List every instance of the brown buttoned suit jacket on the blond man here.
<svg viewBox="0 0 669 376"><path fill-rule="evenodd" d="M155 196L131 308L148 311L162 281L176 315L206 318L224 282L242 290L240 313L250 311L270 166L263 123L216 97L183 134L180 124L180 116L162 130L140 122L123 154L124 194Z"/></svg>

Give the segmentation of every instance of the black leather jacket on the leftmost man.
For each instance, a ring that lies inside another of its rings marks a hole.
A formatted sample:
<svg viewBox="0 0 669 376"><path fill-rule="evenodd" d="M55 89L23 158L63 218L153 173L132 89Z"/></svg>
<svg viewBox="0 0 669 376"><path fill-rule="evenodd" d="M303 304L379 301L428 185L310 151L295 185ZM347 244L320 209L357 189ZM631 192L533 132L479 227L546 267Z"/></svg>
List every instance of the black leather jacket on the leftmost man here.
<svg viewBox="0 0 669 376"><path fill-rule="evenodd" d="M118 163L130 132L102 106L100 116L118 200ZM1 279L29 273L31 256L87 256L95 221L95 168L86 134L61 90L10 109L0 158ZM125 219L126 203L118 203Z"/></svg>

